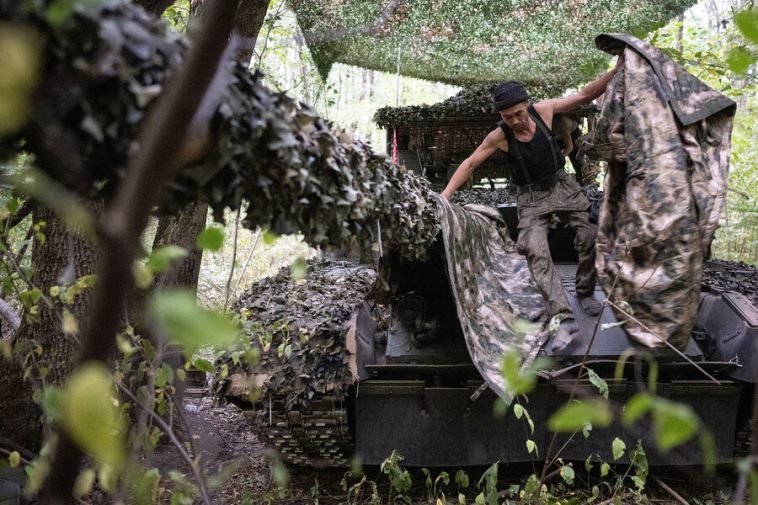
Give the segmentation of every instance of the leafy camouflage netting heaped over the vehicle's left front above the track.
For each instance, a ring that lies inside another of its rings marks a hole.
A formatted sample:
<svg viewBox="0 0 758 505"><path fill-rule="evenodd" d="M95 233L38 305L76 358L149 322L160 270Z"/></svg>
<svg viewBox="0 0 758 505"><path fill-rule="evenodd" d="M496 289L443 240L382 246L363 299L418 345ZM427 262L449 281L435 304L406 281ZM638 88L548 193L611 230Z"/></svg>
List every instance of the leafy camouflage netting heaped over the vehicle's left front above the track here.
<svg viewBox="0 0 758 505"><path fill-rule="evenodd" d="M317 393L347 392L355 377L345 335L375 279L369 266L312 260L303 279L293 279L290 269L283 268L236 301L234 310L245 318L246 335L262 351L264 395L275 392L295 405L307 404ZM247 388L243 382L240 391L224 393L244 396Z"/></svg>

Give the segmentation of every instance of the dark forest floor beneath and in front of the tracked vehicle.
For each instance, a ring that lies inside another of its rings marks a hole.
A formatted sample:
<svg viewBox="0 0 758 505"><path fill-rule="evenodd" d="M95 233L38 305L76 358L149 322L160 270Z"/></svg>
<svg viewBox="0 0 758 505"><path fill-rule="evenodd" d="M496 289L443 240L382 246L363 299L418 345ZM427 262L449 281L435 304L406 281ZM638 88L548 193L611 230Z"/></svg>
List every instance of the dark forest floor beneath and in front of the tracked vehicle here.
<svg viewBox="0 0 758 505"><path fill-rule="evenodd" d="M411 498L405 501L391 502L390 496L392 495L390 494L388 479L382 475L377 467L363 469L368 479L363 486L364 492L357 500L354 498L348 500L347 493L342 486L346 469L316 470L278 464L275 455L258 441L242 412L235 406L215 406L210 398L189 397L185 401L184 415L192 437L192 444L197 453L201 455L206 477L217 474L219 469L226 465L234 465L228 467L231 468L231 476L220 487L210 491L210 499L213 504L369 504L372 503L370 499L372 482L376 483L376 496L380 500L373 503L435 504L436 502L436 499L432 499L430 496L433 494L430 493L431 490L424 485L426 477L421 470L411 470L414 482L414 488L410 493ZM152 464L159 468L162 474L174 468L189 474L189 468L185 462L169 445L162 446L156 452ZM475 489L475 484L484 470L486 468L467 469L471 486L469 491L465 492L466 503L474 503L474 498L479 493L479 490ZM537 471L539 470L537 469ZM439 474L439 471L432 471L433 479ZM456 469L453 469L450 472L450 484L442 487L447 496L447 503L451 504L459 503L458 490L452 479L455 471ZM523 483L533 471L534 469L528 465L510 465L507 468L505 465L501 465L498 488L508 489L510 484ZM577 471L577 482L584 478L579 474L580 472ZM284 486L277 484L282 482L286 482L286 484ZM351 481L350 485L355 482ZM673 496L661 483L678 494L679 498ZM629 482L629 487L617 494L620 501L608 500L609 496L601 494L595 503L726 505L732 503L729 497L734 491L735 483L736 478L733 469L727 467L719 468L715 476L705 476L702 471L695 467L684 469L654 468L651 469L651 475L643 493L644 497L635 496L631 489L633 485ZM587 486L586 489L582 489L581 485L577 485L575 488L565 488L559 485L556 491L560 491L561 496L565 496L565 503L567 504L589 503L588 490L590 488L591 486ZM170 488L164 491L165 503L169 502L170 493ZM437 497L440 496L437 495ZM506 498L503 495L500 503L505 503ZM195 503L200 504L202 500L196 499ZM513 500L510 503L518 503L518 500Z"/></svg>

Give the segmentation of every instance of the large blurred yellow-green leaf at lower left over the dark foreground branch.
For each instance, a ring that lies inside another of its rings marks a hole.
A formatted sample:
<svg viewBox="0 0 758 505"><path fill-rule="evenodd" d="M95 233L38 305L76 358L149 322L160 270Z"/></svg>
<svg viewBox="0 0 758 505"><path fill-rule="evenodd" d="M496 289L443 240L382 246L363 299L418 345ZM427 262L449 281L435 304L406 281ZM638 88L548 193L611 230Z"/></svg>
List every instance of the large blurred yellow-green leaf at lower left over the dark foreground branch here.
<svg viewBox="0 0 758 505"><path fill-rule="evenodd" d="M123 420L113 403L112 390L113 379L102 363L84 363L63 388L61 423L85 453L117 474L126 453Z"/></svg>

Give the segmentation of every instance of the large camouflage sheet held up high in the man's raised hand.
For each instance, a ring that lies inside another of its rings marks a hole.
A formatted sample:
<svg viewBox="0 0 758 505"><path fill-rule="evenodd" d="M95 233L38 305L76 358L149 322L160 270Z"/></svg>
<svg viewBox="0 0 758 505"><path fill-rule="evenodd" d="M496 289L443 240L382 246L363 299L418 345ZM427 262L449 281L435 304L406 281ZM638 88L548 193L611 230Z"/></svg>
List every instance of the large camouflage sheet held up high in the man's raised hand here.
<svg viewBox="0 0 758 505"><path fill-rule="evenodd" d="M684 348L724 205L735 104L646 42L611 34L596 44L625 58L590 149L608 162L599 280L612 301L631 306L632 317L617 315L632 338Z"/></svg>

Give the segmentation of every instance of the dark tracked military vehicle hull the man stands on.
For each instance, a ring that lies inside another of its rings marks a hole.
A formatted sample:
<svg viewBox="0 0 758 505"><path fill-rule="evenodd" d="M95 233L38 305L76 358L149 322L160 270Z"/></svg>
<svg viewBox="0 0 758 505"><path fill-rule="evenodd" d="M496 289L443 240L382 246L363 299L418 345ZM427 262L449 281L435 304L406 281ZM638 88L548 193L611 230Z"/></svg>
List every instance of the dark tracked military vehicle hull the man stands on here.
<svg viewBox="0 0 758 505"><path fill-rule="evenodd" d="M511 223L509 229L515 230L515 205L501 205L499 210ZM366 464L379 464L392 450L399 451L411 466L541 459L552 436L546 421L568 400L580 363L584 361L608 381L609 398L619 409L645 387L649 371L645 360L632 359L623 367L622 377L614 379L619 357L635 346L623 327L614 324L617 319L609 308L599 322L579 308L574 297L572 238L568 230L558 227L551 233L550 246L581 335L560 352L551 350L551 340L539 350L541 356L553 360L553 366L540 374L536 390L524 403L534 421L533 434L526 421L516 419L512 412L504 417L494 414L498 397L486 388L467 349L439 239L427 260L395 259L389 265L389 278L379 276L377 282L389 284L384 286L390 293L388 316L377 317L376 306L360 302L358 295L367 292L365 283L348 304L349 317L344 300L338 303L345 317L331 324L343 330L330 338L344 342L346 354L339 367L345 373L332 375L333 383L325 392L314 393L302 382L299 392L293 394L288 387L287 394L278 393L271 386L281 379L272 382L276 373L267 371L264 364L256 374L233 374L226 396L246 411L264 443L295 464L347 465L354 456ZM362 272L364 280L366 275L376 277L369 267L332 264L321 270L316 267L300 282L315 276L322 278L317 284L323 286L325 276L327 284L344 286L357 272ZM599 288L596 297L604 299ZM694 409L715 437L718 462L745 453L750 439L748 420L758 378L757 299L755 268L709 263L696 329L683 350L686 359L667 352L653 356L658 364L657 394ZM332 347L325 355L334 357L333 353ZM315 360L309 373L326 368L326 361ZM248 393L253 384L263 389L251 402ZM592 387L586 379L578 384ZM565 442L561 455L567 460L596 454L611 461L611 442L617 436L629 447L641 440L651 464L696 464L703 458L696 442L665 454L656 452L649 427L627 429L618 422L606 429L595 428L587 438L561 437L557 447ZM527 450L527 438L537 443L538 451Z"/></svg>

